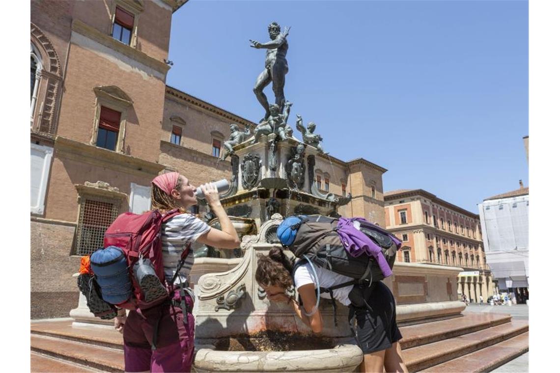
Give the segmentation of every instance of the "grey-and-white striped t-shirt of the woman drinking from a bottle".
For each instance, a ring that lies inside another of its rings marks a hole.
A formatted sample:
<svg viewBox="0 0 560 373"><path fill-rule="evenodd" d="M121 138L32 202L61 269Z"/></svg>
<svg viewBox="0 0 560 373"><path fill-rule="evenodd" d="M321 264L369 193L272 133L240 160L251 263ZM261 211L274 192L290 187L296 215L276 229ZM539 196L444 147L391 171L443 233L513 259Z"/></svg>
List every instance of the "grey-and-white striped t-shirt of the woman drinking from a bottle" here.
<svg viewBox="0 0 560 373"><path fill-rule="evenodd" d="M207 233L210 226L191 214L180 214L167 220L161 226L161 254L164 264L165 278L171 282L181 260L186 245L196 241L200 235ZM185 263L175 280L175 284L188 281L190 270L194 264L194 252L191 248Z"/></svg>

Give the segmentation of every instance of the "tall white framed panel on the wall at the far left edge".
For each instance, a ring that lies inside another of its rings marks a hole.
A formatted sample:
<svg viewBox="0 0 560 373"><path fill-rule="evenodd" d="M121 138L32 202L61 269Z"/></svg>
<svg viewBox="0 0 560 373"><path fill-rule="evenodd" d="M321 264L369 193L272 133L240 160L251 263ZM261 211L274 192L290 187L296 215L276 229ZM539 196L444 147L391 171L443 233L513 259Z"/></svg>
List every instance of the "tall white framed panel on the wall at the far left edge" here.
<svg viewBox="0 0 560 373"><path fill-rule="evenodd" d="M31 144L31 213L43 214L53 148Z"/></svg>

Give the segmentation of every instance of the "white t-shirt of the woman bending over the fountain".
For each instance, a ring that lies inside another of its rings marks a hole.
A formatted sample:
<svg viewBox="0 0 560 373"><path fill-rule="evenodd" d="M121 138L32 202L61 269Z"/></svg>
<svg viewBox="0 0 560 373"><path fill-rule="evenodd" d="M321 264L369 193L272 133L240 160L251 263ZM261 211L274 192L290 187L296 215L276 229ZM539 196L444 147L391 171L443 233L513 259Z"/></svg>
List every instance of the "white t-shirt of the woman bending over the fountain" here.
<svg viewBox="0 0 560 373"><path fill-rule="evenodd" d="M300 259L307 261L307 259ZM326 268L318 267L313 265L315 268L315 272L319 277L319 286L320 287L330 287L338 284L343 284L344 282L353 281L352 277L339 275L339 273L335 273L333 271L329 271ZM307 285L307 284L317 284L317 280L313 274L313 270L311 269L311 265L309 262L305 263L304 265L300 265L296 268L296 272L293 274L293 281L294 286L298 289L300 286ZM348 294L352 290L353 285L348 285L345 287L341 287L340 289L333 290L333 297L334 299L338 300L345 306L350 305L350 300L348 299ZM316 287L315 287L316 291ZM330 294L328 292L321 293L321 298L330 299Z"/></svg>

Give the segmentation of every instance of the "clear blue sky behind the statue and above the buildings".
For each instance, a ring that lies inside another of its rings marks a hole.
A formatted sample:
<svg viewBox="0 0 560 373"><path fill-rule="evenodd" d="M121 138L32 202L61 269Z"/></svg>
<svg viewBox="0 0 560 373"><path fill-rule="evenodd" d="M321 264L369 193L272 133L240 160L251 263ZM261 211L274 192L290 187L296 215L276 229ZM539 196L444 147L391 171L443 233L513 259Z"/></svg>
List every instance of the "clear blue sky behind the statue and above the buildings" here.
<svg viewBox="0 0 560 373"><path fill-rule="evenodd" d="M301 114L334 157L387 168L385 191L478 213L529 185L526 1L190 0L173 16L167 84L258 121L265 51L249 39L269 40L272 21L292 27L290 123Z"/></svg>

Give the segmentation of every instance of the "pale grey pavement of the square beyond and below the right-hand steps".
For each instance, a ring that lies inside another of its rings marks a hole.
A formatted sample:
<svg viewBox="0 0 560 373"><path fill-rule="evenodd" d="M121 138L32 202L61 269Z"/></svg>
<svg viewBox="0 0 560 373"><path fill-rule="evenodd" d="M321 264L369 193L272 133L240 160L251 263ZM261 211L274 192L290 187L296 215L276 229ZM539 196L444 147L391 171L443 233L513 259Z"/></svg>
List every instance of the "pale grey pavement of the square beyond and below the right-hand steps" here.
<svg viewBox="0 0 560 373"><path fill-rule="evenodd" d="M501 306L491 306L491 305L479 305L479 304L469 304L469 306L463 311L466 313L508 313L511 315L512 319L515 320L529 320L529 306L526 304L514 304L511 306L501 305ZM504 365L494 369L492 373L517 373L517 372L528 372L529 371L529 352L516 357L514 360L505 363Z"/></svg>

